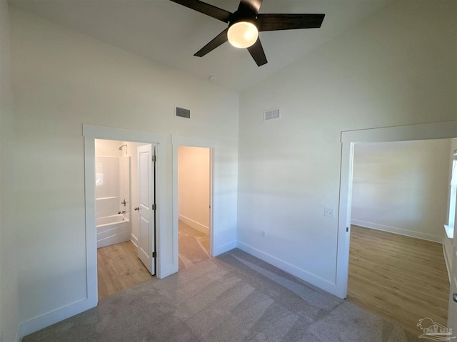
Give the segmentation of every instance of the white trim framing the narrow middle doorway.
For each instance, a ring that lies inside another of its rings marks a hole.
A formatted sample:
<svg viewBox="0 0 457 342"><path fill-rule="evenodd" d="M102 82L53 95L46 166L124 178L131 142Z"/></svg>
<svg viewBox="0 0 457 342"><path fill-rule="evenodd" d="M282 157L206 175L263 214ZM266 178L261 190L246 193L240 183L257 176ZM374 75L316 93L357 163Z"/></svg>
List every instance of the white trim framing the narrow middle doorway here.
<svg viewBox="0 0 457 342"><path fill-rule="evenodd" d="M214 212L216 209L215 205L215 194L217 194L216 188L218 187L218 155L219 155L219 142L217 140L204 139L204 138L191 138L184 137L181 135L171 135L171 144L173 145L173 259L174 264L179 267L179 248L178 248L178 147L189 146L189 147L204 147L210 150L210 177L211 177L211 196L210 205L211 210L209 217L209 254L216 256L217 251L215 250L215 234L217 232L214 227ZM178 269L176 269L178 271Z"/></svg>

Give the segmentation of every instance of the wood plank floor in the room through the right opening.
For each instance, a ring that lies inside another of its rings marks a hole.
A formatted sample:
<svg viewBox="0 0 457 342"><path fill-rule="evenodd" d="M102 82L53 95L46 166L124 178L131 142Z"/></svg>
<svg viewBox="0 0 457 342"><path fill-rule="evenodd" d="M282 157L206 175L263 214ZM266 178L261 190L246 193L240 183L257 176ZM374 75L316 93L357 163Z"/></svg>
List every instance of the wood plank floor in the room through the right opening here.
<svg viewBox="0 0 457 342"><path fill-rule="evenodd" d="M421 318L446 326L448 296L441 244L351 226L348 301L419 336Z"/></svg>

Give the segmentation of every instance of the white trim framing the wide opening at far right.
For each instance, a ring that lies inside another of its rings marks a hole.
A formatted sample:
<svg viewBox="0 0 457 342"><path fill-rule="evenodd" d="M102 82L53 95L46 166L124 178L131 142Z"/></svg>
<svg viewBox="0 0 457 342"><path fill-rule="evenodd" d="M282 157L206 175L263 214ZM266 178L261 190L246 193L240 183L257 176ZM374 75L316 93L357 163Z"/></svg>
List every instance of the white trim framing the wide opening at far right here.
<svg viewBox="0 0 457 342"><path fill-rule="evenodd" d="M457 138L457 121L426 123L341 132L340 204L338 210L338 250L336 257L336 296L348 294L349 241L351 229L353 149L361 142L395 142Z"/></svg>

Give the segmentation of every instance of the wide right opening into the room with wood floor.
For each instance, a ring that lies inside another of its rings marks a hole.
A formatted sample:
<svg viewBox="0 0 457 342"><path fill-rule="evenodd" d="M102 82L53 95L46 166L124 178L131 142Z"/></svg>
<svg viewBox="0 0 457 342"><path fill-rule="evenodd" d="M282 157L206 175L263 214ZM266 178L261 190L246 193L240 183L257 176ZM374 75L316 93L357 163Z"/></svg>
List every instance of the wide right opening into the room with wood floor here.
<svg viewBox="0 0 457 342"><path fill-rule="evenodd" d="M442 242L451 141L354 148L348 301L416 335L421 318L447 322Z"/></svg>

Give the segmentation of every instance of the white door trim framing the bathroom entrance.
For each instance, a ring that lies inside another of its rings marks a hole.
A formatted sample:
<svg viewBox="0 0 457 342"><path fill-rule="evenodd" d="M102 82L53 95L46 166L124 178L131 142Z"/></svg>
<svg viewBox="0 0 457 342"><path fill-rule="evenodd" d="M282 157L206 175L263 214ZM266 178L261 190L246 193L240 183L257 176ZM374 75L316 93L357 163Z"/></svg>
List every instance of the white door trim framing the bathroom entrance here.
<svg viewBox="0 0 457 342"><path fill-rule="evenodd" d="M99 125L83 124L84 135L84 185L86 207L86 284L87 299L92 307L98 303L97 248L96 248L96 203L95 203L95 140L121 140L144 142L156 145L156 276L161 279L170 269L161 258L161 247L166 241L166 137L163 133L141 130L126 130Z"/></svg>

